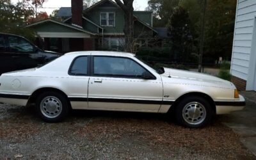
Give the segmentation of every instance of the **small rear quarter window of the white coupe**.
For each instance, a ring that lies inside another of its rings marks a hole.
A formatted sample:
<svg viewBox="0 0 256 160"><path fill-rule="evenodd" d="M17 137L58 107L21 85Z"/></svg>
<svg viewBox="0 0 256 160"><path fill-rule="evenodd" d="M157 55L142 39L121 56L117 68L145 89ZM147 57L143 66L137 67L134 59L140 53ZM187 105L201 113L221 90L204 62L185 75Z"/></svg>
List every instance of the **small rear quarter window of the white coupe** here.
<svg viewBox="0 0 256 160"><path fill-rule="evenodd" d="M69 70L70 74L76 76L86 76L87 72L87 56L76 58Z"/></svg>

